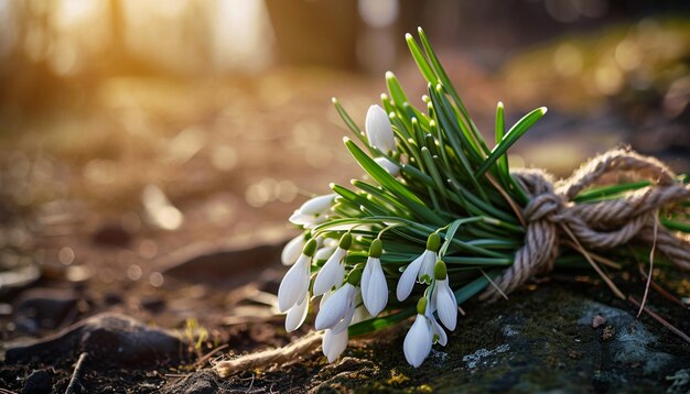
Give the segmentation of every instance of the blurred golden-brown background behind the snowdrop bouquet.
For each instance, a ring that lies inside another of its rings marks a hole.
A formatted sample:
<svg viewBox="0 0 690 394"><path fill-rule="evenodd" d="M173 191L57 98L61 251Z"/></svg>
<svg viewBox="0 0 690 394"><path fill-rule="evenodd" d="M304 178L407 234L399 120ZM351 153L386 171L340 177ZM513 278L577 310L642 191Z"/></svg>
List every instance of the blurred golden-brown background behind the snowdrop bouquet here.
<svg viewBox="0 0 690 394"><path fill-rule="evenodd" d="M514 165L565 176L627 143L688 172L689 12L683 0L0 0L0 293L39 276L145 293L166 283L172 251L291 236L304 198L360 173L331 97L363 124L391 69L421 103L403 39L419 25L488 139L497 101L513 121L549 107Z"/></svg>

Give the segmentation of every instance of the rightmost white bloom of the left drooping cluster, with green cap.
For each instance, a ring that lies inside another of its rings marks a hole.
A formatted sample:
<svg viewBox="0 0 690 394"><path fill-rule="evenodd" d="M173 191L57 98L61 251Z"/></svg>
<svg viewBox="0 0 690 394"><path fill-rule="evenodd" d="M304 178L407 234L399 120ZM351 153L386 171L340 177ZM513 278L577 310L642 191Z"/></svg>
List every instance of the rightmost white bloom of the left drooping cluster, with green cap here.
<svg viewBox="0 0 690 394"><path fill-rule="evenodd" d="M381 240L375 239L362 273L362 300L371 316L380 314L388 303L388 284L381 270Z"/></svg>

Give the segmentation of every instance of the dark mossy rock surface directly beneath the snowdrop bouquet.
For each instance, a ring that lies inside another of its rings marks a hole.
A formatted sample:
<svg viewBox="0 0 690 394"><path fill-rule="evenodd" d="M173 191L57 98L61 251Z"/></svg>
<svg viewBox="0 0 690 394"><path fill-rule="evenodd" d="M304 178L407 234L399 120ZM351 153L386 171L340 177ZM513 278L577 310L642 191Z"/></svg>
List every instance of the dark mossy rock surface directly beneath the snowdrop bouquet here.
<svg viewBox="0 0 690 394"><path fill-rule="evenodd" d="M686 392L690 346L654 320L548 285L519 292L507 303L467 306L446 348L435 346L413 369L405 362L405 330L351 342L334 364L319 349L305 361L226 381L197 372L168 392ZM605 324L593 328L593 320ZM285 376L287 374L287 376ZM676 376L676 377L673 377ZM249 384L251 382L251 385Z"/></svg>

